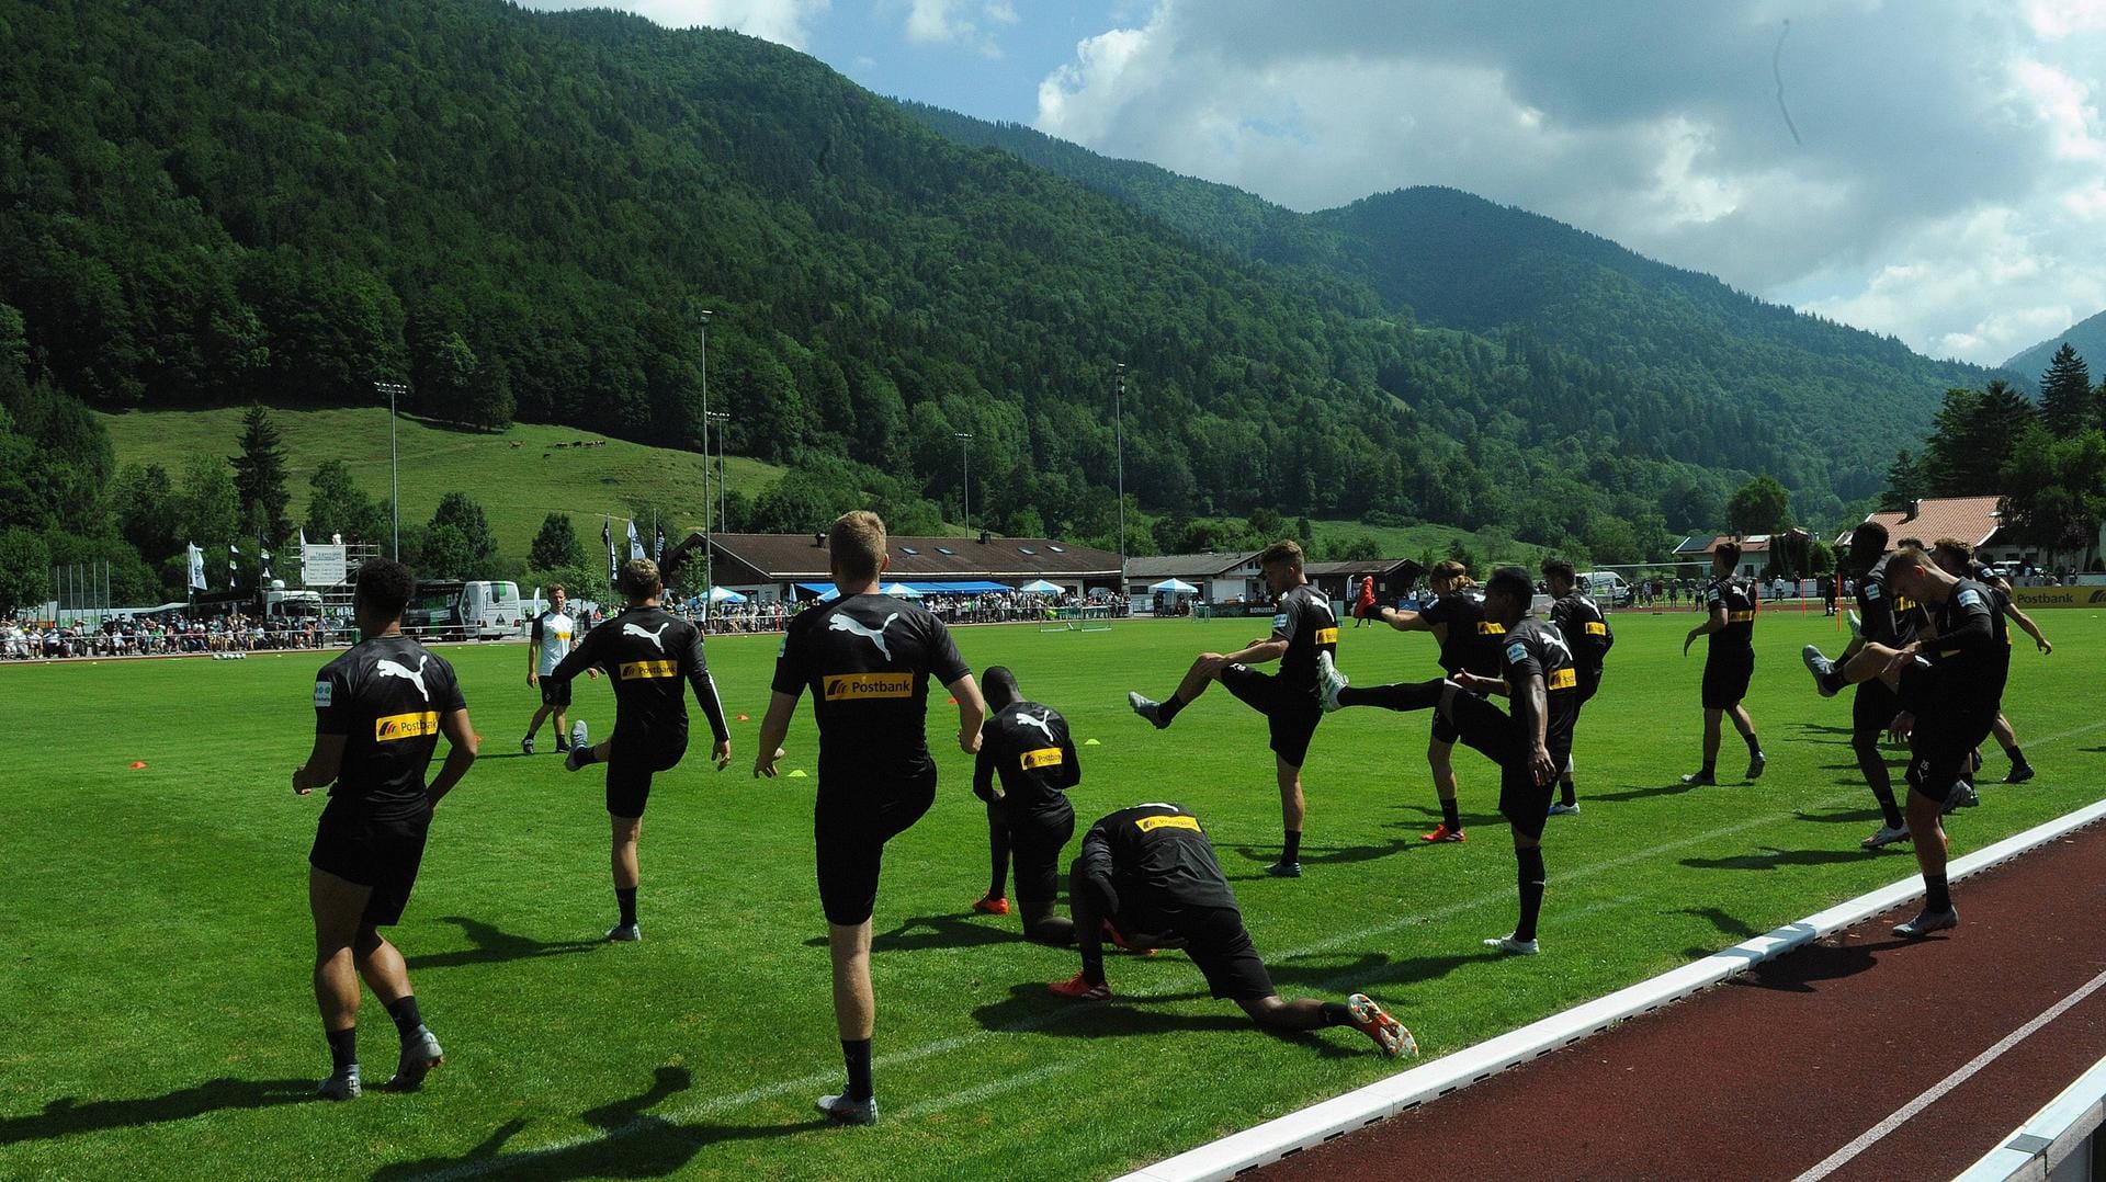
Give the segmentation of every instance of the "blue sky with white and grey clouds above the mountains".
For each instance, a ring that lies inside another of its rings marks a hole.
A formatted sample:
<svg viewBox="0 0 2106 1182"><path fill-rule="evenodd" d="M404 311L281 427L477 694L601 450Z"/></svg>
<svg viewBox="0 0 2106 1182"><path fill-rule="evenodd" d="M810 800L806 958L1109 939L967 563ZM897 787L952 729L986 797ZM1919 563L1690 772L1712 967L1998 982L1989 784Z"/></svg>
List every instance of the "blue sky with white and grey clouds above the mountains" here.
<svg viewBox="0 0 2106 1182"><path fill-rule="evenodd" d="M2106 308L2106 0L613 4L1289 209L1453 185L1933 356Z"/></svg>

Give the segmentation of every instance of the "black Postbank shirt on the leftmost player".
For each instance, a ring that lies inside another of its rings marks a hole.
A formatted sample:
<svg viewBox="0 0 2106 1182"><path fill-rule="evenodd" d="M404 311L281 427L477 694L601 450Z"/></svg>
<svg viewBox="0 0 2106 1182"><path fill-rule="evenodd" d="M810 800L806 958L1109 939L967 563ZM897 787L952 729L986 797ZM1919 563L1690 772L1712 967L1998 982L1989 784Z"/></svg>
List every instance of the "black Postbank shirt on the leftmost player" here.
<svg viewBox="0 0 2106 1182"><path fill-rule="evenodd" d="M446 657L409 636L362 641L314 678L314 729L343 735L343 765L329 788L373 820L432 807L423 773L438 750L438 721L468 710Z"/></svg>

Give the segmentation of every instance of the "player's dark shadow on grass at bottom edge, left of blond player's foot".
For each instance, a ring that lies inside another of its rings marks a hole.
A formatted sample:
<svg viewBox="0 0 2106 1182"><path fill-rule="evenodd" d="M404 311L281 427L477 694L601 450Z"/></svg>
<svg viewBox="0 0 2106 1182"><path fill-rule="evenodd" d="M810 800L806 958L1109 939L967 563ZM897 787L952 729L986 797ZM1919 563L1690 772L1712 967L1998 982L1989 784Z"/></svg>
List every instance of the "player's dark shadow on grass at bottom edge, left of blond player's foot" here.
<svg viewBox="0 0 2106 1182"><path fill-rule="evenodd" d="M676 1125L665 1117L651 1117L649 1110L668 1098L687 1091L693 1077L684 1066L661 1066L651 1087L640 1096L615 1100L579 1115L581 1121L600 1129L598 1138L556 1148L529 1148L503 1153L505 1142L526 1127L524 1119L505 1121L480 1144L459 1157L428 1157L423 1161L398 1161L373 1174L375 1182L409 1182L411 1178L444 1176L453 1171L495 1174L499 1178L537 1178L545 1182L569 1178L663 1178L678 1174L695 1161L703 1148L731 1142L775 1138L821 1127L826 1121L811 1119L796 1125Z"/></svg>

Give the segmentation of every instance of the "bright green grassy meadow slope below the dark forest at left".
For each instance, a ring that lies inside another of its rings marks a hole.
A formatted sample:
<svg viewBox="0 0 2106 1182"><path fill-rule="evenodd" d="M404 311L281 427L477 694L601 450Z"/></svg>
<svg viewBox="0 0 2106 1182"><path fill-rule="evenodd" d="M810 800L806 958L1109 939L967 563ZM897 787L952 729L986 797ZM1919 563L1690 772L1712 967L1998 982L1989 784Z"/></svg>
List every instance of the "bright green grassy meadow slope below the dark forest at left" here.
<svg viewBox="0 0 2106 1182"><path fill-rule="evenodd" d="M177 480L192 455L238 455L242 407L215 411L133 411L103 415L116 445L118 464L160 464ZM284 432L286 487L293 491L291 514L307 512L307 478L329 459L341 459L373 499L385 499L388 487L388 411L383 407L295 411L274 409L272 419ZM573 428L514 423L499 434L463 432L400 419L396 447L402 457L402 520L430 520L438 499L461 491L482 504L497 531L497 548L524 556L541 518L569 512L585 552L598 544L600 514L625 518L632 497L676 506L687 516L680 529L701 527L701 455L625 440L607 447L554 447L573 440L607 436ZM512 447L518 442L520 447ZM543 459L545 455L545 459ZM781 468L758 459L727 461L733 489L760 493ZM710 495L716 495L712 480ZM619 523L615 525L619 531ZM638 525L647 533L647 525ZM672 527L668 537L682 537Z"/></svg>

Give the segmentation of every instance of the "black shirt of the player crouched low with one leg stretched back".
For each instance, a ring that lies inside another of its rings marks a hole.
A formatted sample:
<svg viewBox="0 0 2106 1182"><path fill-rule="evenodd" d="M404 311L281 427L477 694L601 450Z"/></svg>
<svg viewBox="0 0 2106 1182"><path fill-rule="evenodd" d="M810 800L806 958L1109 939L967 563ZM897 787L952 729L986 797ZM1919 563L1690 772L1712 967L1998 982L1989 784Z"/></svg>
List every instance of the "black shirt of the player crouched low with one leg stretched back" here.
<svg viewBox="0 0 2106 1182"><path fill-rule="evenodd" d="M1179 805L1135 805L1089 826L1076 868L1120 931L1175 929L1186 910L1236 906L1213 843Z"/></svg>

